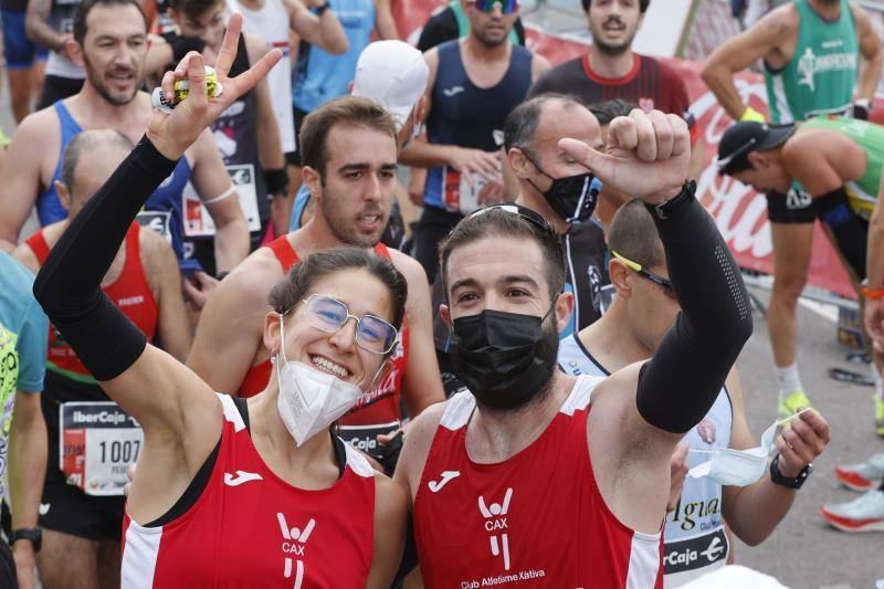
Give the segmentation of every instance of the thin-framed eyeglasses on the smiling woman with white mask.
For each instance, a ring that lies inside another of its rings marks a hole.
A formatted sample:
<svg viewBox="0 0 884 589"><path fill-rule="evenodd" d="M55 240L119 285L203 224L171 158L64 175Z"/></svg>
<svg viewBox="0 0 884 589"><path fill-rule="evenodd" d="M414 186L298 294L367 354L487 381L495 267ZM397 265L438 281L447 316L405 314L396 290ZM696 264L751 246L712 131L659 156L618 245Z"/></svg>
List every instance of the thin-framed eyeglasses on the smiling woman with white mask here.
<svg viewBox="0 0 884 589"><path fill-rule="evenodd" d="M303 303L305 303L304 318L307 323L327 334L343 329L350 317L356 319L356 343L372 354L389 353L399 339L399 332L388 322L376 315L357 317L337 298L313 294Z"/></svg>

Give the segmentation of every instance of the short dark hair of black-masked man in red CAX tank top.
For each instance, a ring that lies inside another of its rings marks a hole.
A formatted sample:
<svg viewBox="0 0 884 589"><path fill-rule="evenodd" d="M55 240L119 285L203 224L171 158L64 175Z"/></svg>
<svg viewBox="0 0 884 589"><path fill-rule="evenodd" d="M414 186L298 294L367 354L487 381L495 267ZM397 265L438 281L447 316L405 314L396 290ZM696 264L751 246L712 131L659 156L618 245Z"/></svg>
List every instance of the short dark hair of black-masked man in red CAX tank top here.
<svg viewBox="0 0 884 589"><path fill-rule="evenodd" d="M439 267L445 301L449 299L449 260L452 252L485 238L515 238L523 243L534 241L540 248L546 264L549 295L556 296L565 288L565 256L557 238L545 232L522 215L498 208L461 220L448 238L439 244ZM518 256L518 253L515 254Z"/></svg>

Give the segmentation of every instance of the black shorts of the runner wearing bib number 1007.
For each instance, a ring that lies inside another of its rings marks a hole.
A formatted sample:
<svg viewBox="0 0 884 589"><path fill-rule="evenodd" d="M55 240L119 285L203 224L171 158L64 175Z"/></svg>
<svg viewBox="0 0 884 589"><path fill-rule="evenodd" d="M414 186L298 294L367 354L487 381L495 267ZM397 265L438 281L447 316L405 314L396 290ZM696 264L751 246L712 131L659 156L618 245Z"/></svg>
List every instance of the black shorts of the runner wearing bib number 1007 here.
<svg viewBox="0 0 884 589"><path fill-rule="evenodd" d="M123 536L126 497L95 497L65 482L50 481L40 503L41 527L90 540L119 541Z"/></svg>

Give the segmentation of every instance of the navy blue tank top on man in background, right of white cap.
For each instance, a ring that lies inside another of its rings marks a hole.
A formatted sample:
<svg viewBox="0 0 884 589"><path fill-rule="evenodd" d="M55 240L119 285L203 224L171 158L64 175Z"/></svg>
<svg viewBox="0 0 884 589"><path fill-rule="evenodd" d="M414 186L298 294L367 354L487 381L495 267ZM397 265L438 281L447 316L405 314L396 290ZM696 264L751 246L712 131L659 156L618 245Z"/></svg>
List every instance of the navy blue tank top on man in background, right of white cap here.
<svg viewBox="0 0 884 589"><path fill-rule="evenodd" d="M494 87L480 88L466 75L457 40L442 43L436 51L439 71L433 85L433 107L427 119L430 143L485 151L499 149L504 120L525 99L532 85L532 53L525 48L514 46L503 80ZM459 187L460 172L448 166L431 168L423 189L423 202L456 211L452 202L457 197L449 194L446 198L445 192L456 192Z"/></svg>

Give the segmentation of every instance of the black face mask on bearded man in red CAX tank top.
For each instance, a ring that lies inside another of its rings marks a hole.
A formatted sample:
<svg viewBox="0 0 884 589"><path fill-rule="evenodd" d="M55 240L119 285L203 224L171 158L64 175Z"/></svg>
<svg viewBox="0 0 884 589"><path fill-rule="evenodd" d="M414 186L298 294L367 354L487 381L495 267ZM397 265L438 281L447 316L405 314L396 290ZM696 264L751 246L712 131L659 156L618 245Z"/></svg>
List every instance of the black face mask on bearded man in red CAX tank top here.
<svg viewBox="0 0 884 589"><path fill-rule="evenodd" d="M449 356L482 406L513 410L547 392L559 337L555 325L544 328L545 318L484 311L454 319Z"/></svg>

